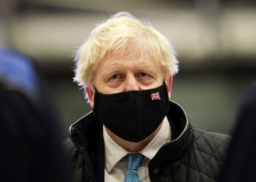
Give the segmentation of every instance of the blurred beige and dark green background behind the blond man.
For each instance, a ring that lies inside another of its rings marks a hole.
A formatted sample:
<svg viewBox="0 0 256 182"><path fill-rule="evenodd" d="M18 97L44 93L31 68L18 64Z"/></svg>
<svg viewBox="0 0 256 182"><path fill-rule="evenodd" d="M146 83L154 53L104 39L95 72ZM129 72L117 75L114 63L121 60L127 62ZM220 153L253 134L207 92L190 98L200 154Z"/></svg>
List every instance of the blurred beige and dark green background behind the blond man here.
<svg viewBox="0 0 256 182"><path fill-rule="evenodd" d="M34 58L67 131L90 111L72 82L75 50L95 24L131 12L149 20L178 53L172 100L192 124L228 133L256 78L255 9L254 0L1 0L0 45Z"/></svg>

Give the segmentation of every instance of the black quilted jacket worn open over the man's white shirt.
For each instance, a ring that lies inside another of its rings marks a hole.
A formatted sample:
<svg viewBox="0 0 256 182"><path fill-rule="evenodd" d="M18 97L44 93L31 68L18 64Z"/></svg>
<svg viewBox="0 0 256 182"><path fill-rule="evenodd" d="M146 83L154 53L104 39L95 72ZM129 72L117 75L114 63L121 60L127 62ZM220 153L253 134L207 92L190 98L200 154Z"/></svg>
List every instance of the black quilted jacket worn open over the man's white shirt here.
<svg viewBox="0 0 256 182"><path fill-rule="evenodd" d="M149 162L151 182L214 182L217 180L229 136L191 127L181 106L170 101L167 115L173 140ZM102 124L92 113L70 127L67 149L73 182L104 181Z"/></svg>

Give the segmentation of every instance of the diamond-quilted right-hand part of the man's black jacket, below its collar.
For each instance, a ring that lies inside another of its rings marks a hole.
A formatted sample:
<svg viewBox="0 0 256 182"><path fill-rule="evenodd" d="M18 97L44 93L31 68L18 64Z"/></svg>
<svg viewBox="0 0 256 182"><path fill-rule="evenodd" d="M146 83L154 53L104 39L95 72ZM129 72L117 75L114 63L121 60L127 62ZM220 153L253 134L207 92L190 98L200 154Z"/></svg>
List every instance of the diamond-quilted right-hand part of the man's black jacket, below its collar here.
<svg viewBox="0 0 256 182"><path fill-rule="evenodd" d="M174 177L173 181L188 181L188 178L193 182L216 181L219 167L222 165L221 158L224 156L230 137L200 128L195 128L193 132L195 138L192 149L186 157L177 161L175 165L170 165L174 176L182 174L184 178L181 180ZM207 151L208 148L210 150Z"/></svg>

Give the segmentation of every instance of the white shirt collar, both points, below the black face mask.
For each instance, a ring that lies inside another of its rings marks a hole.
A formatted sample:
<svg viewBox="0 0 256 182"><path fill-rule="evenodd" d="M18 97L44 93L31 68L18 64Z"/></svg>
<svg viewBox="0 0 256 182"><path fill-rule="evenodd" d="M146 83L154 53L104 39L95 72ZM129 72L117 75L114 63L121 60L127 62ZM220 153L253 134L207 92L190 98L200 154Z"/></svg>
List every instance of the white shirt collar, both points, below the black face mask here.
<svg viewBox="0 0 256 182"><path fill-rule="evenodd" d="M130 152L113 141L106 132L105 127L103 127L103 138L105 144L105 167L108 170L108 173L110 173L116 163ZM152 159L162 145L167 142L170 142L170 124L165 117L162 127L157 135L139 152L148 159Z"/></svg>

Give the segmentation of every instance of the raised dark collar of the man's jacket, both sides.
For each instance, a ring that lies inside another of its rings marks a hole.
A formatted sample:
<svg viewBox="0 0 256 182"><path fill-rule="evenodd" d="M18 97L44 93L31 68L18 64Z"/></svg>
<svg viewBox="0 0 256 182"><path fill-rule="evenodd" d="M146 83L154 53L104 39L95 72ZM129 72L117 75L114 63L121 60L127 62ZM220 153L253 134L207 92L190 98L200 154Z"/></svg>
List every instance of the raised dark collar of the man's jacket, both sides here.
<svg viewBox="0 0 256 182"><path fill-rule="evenodd" d="M170 111L167 114L167 118L170 121L170 127L174 134L172 141L159 149L149 165L157 165L161 161L179 159L192 144L192 127L189 124L187 114L178 103L170 100ZM97 141L101 141L102 124L94 117L91 111L69 127L69 136L80 151L91 153L97 149ZM169 155L166 155L165 152Z"/></svg>

